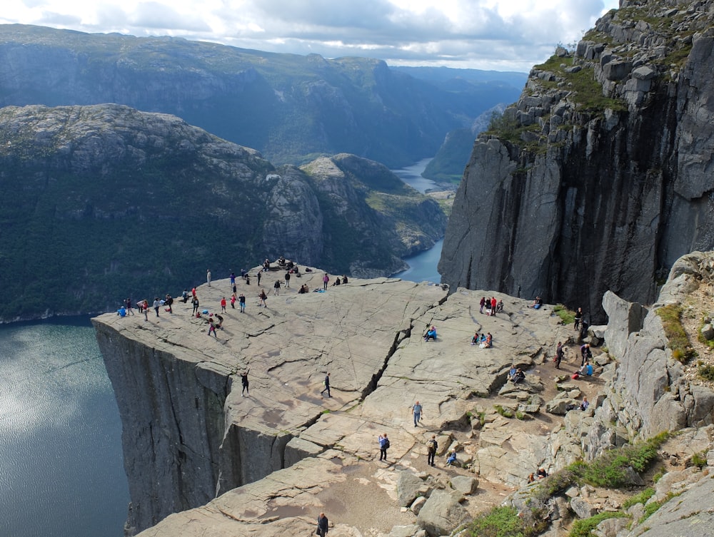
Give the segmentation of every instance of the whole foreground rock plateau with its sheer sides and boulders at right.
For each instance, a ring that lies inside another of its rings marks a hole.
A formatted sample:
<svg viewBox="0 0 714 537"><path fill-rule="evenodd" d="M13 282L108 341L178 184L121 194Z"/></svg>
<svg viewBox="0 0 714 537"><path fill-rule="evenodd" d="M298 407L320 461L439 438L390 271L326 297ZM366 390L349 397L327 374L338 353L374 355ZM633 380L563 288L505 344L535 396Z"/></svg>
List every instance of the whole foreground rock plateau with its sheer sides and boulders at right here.
<svg viewBox="0 0 714 537"><path fill-rule="evenodd" d="M247 310L229 307L217 337L207 334L206 314L193 317L181 302L148 320L93 319L124 424L128 535L307 535L320 511L338 537L447 535L490 506L527 511L524 498L541 486L528 484L528 474L539 467L553 474L670 430L679 434L661 446L663 477L648 501L661 506L646 523L638 523L645 509L655 509L644 500L625 512L628 493L572 486L549 498L545 531L555 537L574 519L617 510L625 518L601 523L598 535L700 536L714 524L704 499L714 486L714 392L693 376L695 364L673 359L658 315L665 305L714 310L714 253L675 263L653 306L605 295L609 322L588 334L595 377L578 381L570 379L580 365L575 331L551 305L533 310L500 293L447 295L385 278L296 292L321 288L322 276L315 269L293 278L268 307L257 307L256 287L243 284ZM267 272L261 285L281 277ZM228 280L202 285L201 305L216 312L228 290ZM480 298L492 295L504 311L480 313ZM425 342L431 324L438 339ZM491 332L493 347L472 346L475 331ZM552 363L558 341L568 347L560 371ZM705 350L701 359L713 361ZM517 386L506 382L514 363L527 372ZM327 372L330 398L321 396ZM583 397L586 411L566 410ZM378 461L383 433L391 439L386 462ZM425 446L432 434L440 446L433 467ZM451 449L456 467L444 464ZM704 454L703 470L691 466L696 454ZM678 501L666 502L675 493Z"/></svg>

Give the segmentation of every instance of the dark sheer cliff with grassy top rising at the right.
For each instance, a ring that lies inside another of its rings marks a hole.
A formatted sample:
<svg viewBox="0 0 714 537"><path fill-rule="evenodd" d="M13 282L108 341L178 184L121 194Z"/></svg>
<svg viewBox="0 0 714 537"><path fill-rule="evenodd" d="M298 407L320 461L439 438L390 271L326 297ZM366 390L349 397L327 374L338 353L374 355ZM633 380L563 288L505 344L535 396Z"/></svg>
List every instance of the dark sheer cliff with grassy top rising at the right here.
<svg viewBox="0 0 714 537"><path fill-rule="evenodd" d="M712 6L623 2L533 68L474 145L439 265L453 289L599 322L605 291L650 302L680 255L714 245Z"/></svg>

